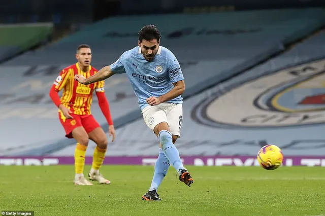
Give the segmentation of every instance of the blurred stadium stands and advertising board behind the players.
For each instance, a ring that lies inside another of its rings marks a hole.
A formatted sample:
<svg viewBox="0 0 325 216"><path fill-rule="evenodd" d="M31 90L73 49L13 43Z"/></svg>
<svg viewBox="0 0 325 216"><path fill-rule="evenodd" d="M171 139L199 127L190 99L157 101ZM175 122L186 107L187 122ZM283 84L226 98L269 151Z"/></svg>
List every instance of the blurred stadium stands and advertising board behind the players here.
<svg viewBox="0 0 325 216"><path fill-rule="evenodd" d="M185 164L258 165L279 146L284 165L325 166L325 2L321 0L0 0L0 164L74 164L48 96L79 44L100 69L155 24L185 77ZM105 164L154 164L158 141L126 76L106 81L117 138ZM92 113L107 131L96 101ZM95 145L90 143L86 163Z"/></svg>

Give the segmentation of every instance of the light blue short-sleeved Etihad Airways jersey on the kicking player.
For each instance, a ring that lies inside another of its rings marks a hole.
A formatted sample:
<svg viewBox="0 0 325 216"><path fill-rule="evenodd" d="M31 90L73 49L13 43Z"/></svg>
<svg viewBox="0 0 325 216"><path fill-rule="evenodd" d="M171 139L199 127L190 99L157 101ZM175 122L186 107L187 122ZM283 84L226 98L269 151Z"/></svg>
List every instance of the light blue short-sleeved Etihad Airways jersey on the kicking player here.
<svg viewBox="0 0 325 216"><path fill-rule="evenodd" d="M115 74L126 73L138 97L140 110L149 105L148 97L164 95L174 88L173 83L184 79L174 54L161 46L151 62L144 58L140 47L135 47L124 52L110 67ZM182 103L183 98L178 96L168 102Z"/></svg>

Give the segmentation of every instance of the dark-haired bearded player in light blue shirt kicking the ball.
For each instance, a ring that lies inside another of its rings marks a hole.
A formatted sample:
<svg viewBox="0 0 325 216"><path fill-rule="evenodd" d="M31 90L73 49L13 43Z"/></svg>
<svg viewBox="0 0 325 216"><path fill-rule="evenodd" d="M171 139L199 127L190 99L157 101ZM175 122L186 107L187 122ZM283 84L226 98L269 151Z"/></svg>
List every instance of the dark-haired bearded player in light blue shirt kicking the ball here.
<svg viewBox="0 0 325 216"><path fill-rule="evenodd" d="M144 121L160 141L152 183L143 200L160 200L157 190L170 164L179 173L181 182L187 186L193 183L174 145L180 137L183 119L184 77L174 54L159 46L160 38L156 26L146 25L139 31L139 46L124 52L116 62L91 77L75 75L79 83L89 85L126 73L132 84Z"/></svg>

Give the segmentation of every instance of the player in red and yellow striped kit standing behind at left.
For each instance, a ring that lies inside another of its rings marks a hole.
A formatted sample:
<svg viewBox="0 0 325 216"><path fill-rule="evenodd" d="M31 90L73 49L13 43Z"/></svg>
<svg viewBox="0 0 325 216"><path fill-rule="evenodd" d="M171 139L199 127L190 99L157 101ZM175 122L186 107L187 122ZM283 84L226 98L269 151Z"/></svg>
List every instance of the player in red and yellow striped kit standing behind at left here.
<svg viewBox="0 0 325 216"><path fill-rule="evenodd" d="M90 65L91 49L88 45L80 45L77 48L76 58L78 62L61 70L50 90L50 97L59 108L58 117L66 131L66 137L77 141L75 150L75 185L92 185L83 175L85 165L85 154L88 141L91 139L96 143L93 153L92 167L88 177L100 184L111 182L100 174L107 150L108 140L104 130L91 114L93 92L96 92L99 106L109 124L109 135L112 141L115 139L115 129L109 109L109 103L105 95L104 81L85 86L75 81L75 75L90 77L98 72ZM63 89L62 97L58 92Z"/></svg>

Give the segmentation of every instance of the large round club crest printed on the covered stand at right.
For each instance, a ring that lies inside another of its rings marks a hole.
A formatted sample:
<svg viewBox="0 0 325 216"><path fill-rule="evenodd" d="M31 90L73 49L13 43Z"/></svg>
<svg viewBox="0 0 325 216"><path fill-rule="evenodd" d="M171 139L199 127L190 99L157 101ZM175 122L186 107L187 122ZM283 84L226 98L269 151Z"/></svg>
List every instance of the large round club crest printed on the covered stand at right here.
<svg viewBox="0 0 325 216"><path fill-rule="evenodd" d="M238 129L324 124L324 65L321 59L237 80L230 91L216 89L202 100L192 116L204 125Z"/></svg>

